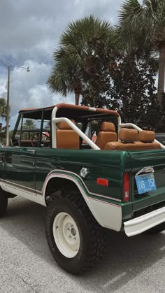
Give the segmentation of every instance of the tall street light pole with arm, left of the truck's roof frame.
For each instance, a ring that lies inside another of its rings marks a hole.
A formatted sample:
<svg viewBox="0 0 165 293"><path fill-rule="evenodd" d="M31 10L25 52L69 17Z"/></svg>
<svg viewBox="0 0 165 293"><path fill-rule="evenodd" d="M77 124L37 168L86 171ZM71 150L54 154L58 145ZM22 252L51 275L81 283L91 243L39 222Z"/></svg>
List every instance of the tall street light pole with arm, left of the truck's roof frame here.
<svg viewBox="0 0 165 293"><path fill-rule="evenodd" d="M9 100L10 100L10 69L13 69L15 67L17 68L22 68L22 69L26 69L27 72L30 71L29 67L22 67L22 66L6 66L6 64L4 64L3 62L0 61L0 63L6 67L6 69L8 70L8 88L7 88L7 115L6 115L6 145L8 145L9 143L9 109L10 109L10 105L9 105Z"/></svg>

